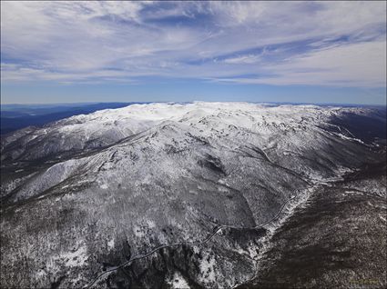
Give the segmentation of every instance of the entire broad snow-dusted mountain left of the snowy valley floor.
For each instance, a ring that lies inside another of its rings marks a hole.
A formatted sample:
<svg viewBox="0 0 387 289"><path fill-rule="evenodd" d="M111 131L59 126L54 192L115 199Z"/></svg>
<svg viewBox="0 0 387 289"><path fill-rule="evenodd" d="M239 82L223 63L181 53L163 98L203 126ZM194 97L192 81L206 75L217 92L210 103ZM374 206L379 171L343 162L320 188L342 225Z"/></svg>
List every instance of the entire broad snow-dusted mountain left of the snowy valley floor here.
<svg viewBox="0 0 387 289"><path fill-rule="evenodd" d="M385 127L381 114L130 105L6 135L0 284L242 284L257 272L261 240L297 204L378 162L385 136L363 139L351 117Z"/></svg>

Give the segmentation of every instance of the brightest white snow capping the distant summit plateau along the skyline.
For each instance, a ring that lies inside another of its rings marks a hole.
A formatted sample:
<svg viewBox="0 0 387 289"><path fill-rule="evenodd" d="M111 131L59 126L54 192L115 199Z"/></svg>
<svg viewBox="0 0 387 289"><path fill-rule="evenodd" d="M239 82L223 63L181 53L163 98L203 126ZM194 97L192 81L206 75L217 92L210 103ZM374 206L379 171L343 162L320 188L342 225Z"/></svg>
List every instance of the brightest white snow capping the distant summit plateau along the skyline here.
<svg viewBox="0 0 387 289"><path fill-rule="evenodd" d="M164 122L219 122L220 126L239 125L249 130L270 135L271 128L288 130L300 124L310 126L331 115L340 115L342 111L362 112L359 108L319 107L314 105L262 105L251 103L209 103L191 104L154 103L148 105L129 105L118 109L97 111L90 115L75 115L33 132L36 135L58 135L63 144L77 137L85 144L89 140L98 140L109 135L113 142L134 135ZM348 138L348 136L341 135ZM356 140L356 139L351 139ZM7 140L6 140L7 141ZM9 138L12 141L12 138ZM359 141L359 140L357 140Z"/></svg>

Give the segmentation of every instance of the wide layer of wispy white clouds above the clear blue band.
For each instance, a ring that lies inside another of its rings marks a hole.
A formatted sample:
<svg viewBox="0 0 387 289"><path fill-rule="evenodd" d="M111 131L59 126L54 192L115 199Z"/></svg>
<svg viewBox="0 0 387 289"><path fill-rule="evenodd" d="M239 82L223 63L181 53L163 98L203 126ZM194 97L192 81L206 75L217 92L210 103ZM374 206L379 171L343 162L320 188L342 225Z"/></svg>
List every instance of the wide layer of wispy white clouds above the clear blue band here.
<svg viewBox="0 0 387 289"><path fill-rule="evenodd" d="M385 2L2 2L2 82L386 86Z"/></svg>

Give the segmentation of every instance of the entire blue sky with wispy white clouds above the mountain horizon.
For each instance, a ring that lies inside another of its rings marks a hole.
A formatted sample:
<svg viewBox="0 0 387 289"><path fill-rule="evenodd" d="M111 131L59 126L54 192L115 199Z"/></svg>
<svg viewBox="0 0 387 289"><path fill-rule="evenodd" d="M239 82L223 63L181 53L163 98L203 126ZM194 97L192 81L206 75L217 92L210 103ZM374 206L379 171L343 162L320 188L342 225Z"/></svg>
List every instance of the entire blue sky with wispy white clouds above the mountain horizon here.
<svg viewBox="0 0 387 289"><path fill-rule="evenodd" d="M385 1L1 1L1 103L386 104Z"/></svg>

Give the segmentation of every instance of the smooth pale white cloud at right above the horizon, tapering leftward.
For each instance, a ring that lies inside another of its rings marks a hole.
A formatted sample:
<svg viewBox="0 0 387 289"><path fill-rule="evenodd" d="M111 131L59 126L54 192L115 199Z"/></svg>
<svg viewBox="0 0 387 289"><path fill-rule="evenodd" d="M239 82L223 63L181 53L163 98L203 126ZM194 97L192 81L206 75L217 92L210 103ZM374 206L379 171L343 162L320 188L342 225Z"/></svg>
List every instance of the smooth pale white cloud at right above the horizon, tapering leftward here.
<svg viewBox="0 0 387 289"><path fill-rule="evenodd" d="M332 46L263 70L278 75L228 79L250 84L385 86L386 42Z"/></svg>

